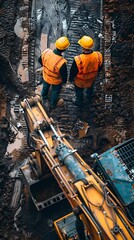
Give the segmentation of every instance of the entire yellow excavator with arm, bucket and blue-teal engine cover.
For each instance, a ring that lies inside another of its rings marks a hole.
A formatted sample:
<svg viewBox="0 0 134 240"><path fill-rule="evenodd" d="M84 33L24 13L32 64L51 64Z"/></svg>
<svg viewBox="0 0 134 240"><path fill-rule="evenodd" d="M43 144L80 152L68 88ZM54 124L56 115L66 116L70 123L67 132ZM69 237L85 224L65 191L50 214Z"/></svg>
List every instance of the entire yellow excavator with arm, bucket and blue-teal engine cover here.
<svg viewBox="0 0 134 240"><path fill-rule="evenodd" d="M39 96L24 99L21 107L33 148L21 171L36 208L40 211L66 198L72 209L54 221L59 239L133 240L134 139L94 154L93 171L48 117ZM48 181L50 176L56 183ZM57 184L56 193L51 188L44 193L48 183Z"/></svg>

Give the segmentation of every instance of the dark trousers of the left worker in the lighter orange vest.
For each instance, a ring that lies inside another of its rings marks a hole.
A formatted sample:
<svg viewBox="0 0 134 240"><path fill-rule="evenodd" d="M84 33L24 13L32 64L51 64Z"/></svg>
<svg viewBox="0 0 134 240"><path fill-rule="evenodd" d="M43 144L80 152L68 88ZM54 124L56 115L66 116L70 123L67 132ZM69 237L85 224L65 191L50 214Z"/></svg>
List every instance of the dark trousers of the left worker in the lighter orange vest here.
<svg viewBox="0 0 134 240"><path fill-rule="evenodd" d="M61 91L62 84L52 85L52 84L49 84L49 83L43 81L43 88L41 91L41 96L42 96L43 101L45 101L48 98L48 92L49 92L50 86L52 86L50 104L51 104L51 107L54 108L54 107L56 107L57 101L59 100L59 94Z"/></svg>

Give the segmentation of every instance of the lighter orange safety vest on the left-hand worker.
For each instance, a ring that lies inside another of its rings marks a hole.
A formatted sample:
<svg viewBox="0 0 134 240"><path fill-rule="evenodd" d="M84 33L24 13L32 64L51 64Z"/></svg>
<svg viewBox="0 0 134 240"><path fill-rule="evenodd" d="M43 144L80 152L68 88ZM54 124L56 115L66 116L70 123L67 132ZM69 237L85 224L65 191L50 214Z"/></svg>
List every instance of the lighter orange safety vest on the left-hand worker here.
<svg viewBox="0 0 134 240"><path fill-rule="evenodd" d="M58 85L62 83L60 68L67 61L51 49L47 48L41 55L43 64L43 79L49 84Z"/></svg>

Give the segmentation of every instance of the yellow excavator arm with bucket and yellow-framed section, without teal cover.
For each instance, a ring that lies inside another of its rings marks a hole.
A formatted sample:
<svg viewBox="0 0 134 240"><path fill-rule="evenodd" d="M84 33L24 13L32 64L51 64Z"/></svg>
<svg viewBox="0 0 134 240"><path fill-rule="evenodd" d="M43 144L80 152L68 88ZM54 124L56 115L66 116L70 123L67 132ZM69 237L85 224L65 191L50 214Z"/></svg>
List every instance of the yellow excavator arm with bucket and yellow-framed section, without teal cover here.
<svg viewBox="0 0 134 240"><path fill-rule="evenodd" d="M59 239L134 239L133 223L126 216L125 207L65 139L48 117L40 98L24 99L21 107L28 128L28 144L33 148L21 170L37 209L64 198L72 208L70 214L54 222ZM58 190L51 198L50 189L38 196L39 189L43 191L51 176L53 184L58 183Z"/></svg>

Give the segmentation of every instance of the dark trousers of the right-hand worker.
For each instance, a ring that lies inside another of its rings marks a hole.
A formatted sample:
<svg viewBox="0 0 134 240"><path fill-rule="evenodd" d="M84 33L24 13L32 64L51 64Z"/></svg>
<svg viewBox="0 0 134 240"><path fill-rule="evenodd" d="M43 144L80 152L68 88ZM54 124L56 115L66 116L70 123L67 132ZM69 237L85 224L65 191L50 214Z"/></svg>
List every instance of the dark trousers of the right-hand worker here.
<svg viewBox="0 0 134 240"><path fill-rule="evenodd" d="M88 101L90 101L90 99L93 96L93 91L94 91L94 85L92 85L92 87L90 88L86 88L86 95L87 95L87 99ZM84 99L84 88L80 88L75 86L75 93L76 93L76 105L78 107L82 107L83 106L83 99Z"/></svg>

